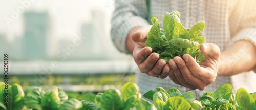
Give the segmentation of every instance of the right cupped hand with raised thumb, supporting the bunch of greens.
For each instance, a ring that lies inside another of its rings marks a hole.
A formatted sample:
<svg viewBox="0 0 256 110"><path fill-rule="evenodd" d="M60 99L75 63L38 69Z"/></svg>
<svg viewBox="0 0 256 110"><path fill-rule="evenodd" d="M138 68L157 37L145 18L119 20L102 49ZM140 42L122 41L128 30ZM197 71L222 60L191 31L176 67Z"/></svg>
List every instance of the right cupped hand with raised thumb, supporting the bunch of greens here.
<svg viewBox="0 0 256 110"><path fill-rule="evenodd" d="M220 49L212 43L200 46L205 56L205 61L200 65L189 54L174 57L169 60L169 78L176 84L185 86L191 90L204 90L207 85L213 83L217 77Z"/></svg>

